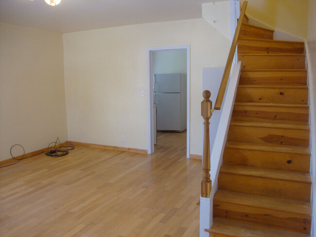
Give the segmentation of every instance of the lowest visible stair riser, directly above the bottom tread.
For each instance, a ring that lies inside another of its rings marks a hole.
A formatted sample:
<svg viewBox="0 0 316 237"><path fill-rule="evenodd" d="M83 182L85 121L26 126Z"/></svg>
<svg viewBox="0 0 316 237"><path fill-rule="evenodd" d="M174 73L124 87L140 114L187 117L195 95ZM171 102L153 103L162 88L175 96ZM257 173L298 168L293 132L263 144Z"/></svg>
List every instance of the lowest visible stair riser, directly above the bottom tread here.
<svg viewBox="0 0 316 237"><path fill-rule="evenodd" d="M256 206L214 201L213 216L304 234L309 234L311 231L311 217L307 215Z"/></svg>

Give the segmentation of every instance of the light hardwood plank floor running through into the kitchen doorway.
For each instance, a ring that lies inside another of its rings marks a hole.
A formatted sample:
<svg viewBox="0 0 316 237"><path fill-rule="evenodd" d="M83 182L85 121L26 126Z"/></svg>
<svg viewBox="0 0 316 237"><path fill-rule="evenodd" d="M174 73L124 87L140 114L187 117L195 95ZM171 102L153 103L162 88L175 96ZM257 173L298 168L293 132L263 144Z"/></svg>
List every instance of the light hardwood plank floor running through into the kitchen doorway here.
<svg viewBox="0 0 316 237"><path fill-rule="evenodd" d="M0 169L1 237L198 237L201 161L186 133L153 155L76 146Z"/></svg>

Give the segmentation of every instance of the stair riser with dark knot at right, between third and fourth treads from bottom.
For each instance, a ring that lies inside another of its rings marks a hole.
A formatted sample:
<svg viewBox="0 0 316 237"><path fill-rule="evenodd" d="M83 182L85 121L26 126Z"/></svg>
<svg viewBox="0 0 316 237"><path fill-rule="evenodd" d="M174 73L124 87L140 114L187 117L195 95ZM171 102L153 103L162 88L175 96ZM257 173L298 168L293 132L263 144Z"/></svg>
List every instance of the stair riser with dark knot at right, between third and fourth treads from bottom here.
<svg viewBox="0 0 316 237"><path fill-rule="evenodd" d="M223 163L298 172L309 172L310 170L309 155L234 148L225 148Z"/></svg>

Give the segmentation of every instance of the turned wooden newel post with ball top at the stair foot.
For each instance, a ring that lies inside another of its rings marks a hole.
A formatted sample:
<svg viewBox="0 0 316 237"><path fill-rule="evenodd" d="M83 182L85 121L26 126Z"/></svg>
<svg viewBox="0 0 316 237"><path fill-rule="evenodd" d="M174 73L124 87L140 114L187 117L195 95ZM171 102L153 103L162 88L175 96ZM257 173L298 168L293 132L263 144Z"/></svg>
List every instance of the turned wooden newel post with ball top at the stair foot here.
<svg viewBox="0 0 316 237"><path fill-rule="evenodd" d="M202 155L203 180L201 182L201 196L209 198L211 194L211 160L210 160L210 119L212 116L212 102L210 101L211 92L203 91L204 100L201 102L201 115L204 119L204 141Z"/></svg>

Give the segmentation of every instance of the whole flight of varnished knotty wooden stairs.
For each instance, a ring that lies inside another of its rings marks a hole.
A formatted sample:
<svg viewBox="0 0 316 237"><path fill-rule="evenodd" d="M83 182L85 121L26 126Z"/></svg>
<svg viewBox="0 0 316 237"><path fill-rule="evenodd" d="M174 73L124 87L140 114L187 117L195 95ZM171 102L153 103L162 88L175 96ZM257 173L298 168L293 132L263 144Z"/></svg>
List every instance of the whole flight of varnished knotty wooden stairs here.
<svg viewBox="0 0 316 237"><path fill-rule="evenodd" d="M309 237L310 127L304 44L242 24L242 71L211 237Z"/></svg>

